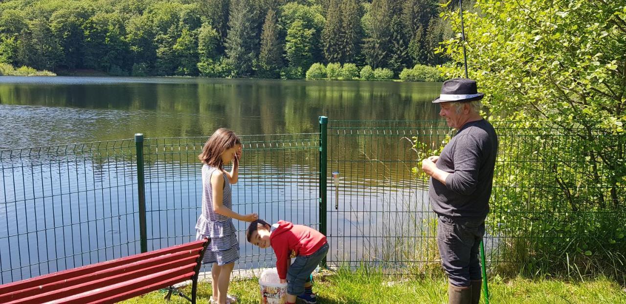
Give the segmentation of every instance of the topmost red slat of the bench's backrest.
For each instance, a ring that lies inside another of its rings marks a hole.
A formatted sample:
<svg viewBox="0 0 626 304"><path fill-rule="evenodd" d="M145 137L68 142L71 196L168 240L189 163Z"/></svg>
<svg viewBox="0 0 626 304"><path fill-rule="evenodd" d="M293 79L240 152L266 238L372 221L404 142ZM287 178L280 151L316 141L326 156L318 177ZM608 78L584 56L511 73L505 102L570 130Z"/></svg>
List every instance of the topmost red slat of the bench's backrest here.
<svg viewBox="0 0 626 304"><path fill-rule="evenodd" d="M193 241L190 243L186 243L183 245L172 246L168 248L163 248L161 250L149 251L146 253L140 253L138 255L127 256L125 258L118 258L116 260L111 261L103 261L101 263L80 266L77 268L72 268L69 270L58 271L55 273L49 273L48 275L37 276L36 278L30 278L27 280L17 281L13 283L8 283L0 286L0 295L4 295L6 293L12 293L19 290L29 289L33 287L38 287L41 285L46 285L47 283L51 283L54 281L63 281L69 280L71 278L75 278L76 276L84 276L91 275L96 271L106 270L112 267L120 266L120 265L128 265L129 263L135 263L138 261L167 255L169 253L177 253L180 251L200 251L203 248L204 240Z"/></svg>

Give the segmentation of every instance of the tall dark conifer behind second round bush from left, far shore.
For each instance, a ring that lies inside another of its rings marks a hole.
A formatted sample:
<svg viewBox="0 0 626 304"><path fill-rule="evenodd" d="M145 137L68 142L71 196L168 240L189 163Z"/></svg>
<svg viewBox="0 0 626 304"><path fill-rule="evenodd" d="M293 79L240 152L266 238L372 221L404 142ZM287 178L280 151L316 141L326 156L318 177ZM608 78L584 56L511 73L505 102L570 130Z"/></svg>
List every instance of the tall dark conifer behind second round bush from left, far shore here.
<svg viewBox="0 0 626 304"><path fill-rule="evenodd" d="M341 0L331 0L326 13L326 25L322 30L322 44L324 48L324 58L326 62L335 63L344 59L342 40L344 28L341 24L341 12L339 5Z"/></svg>

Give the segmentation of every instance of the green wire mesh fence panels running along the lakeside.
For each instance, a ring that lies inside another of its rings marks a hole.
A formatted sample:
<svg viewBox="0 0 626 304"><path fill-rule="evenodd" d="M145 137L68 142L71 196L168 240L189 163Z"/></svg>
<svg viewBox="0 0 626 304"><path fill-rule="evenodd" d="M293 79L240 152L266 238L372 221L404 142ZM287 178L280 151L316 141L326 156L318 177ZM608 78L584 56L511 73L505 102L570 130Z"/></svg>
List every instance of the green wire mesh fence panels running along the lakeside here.
<svg viewBox="0 0 626 304"><path fill-rule="evenodd" d="M545 123L494 125L500 151L485 238L490 269L553 262L545 257L623 256L625 136ZM329 120L319 133L241 136L233 210L326 231L329 266L427 271L438 264L436 215L419 168L453 134L443 121ZM0 283L195 239L197 155L205 141L0 151ZM235 226L237 268L272 266L272 251L245 241L246 223ZM619 263L613 268L623 274Z"/></svg>

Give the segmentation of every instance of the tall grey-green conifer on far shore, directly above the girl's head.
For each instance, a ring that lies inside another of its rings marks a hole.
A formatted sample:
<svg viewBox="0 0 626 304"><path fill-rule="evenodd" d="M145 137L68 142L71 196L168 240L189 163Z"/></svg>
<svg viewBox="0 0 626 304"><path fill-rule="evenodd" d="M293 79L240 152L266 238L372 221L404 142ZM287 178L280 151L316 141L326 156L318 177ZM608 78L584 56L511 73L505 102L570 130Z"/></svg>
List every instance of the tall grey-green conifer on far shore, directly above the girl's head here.
<svg viewBox="0 0 626 304"><path fill-rule="evenodd" d="M252 71L257 33L253 24L254 8L250 0L233 0L230 3L226 55L232 64L232 76L249 76Z"/></svg>

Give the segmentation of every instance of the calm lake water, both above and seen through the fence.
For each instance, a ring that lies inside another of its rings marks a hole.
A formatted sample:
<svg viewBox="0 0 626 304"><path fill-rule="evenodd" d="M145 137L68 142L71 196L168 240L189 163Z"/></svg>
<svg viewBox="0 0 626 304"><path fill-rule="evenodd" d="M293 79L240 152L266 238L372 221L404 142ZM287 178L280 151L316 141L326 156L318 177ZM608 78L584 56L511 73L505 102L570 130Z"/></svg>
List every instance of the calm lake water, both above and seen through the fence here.
<svg viewBox="0 0 626 304"><path fill-rule="evenodd" d="M193 238L202 189L195 156L215 129L316 133L321 115L331 126L338 120L433 120L438 108L431 100L440 88L372 81L2 76L0 150L129 139L135 133L198 136L184 143L152 141L160 145L146 148L153 149L145 161L151 250ZM399 251L424 245L419 226L430 218L423 183L410 173L418 164L404 140L411 136L403 135L415 128L386 123L366 134L361 126L329 131L335 137L329 138L328 171L341 171L337 187L329 176L329 261L406 261ZM317 137L243 139L249 145L240 182L233 186L233 210L316 226ZM120 143L134 149L131 140ZM2 283L138 251L133 161L119 151L100 158L50 151L0 151ZM397 236L413 243L398 243ZM243 233L239 240L237 268L274 263L271 251L253 248Z"/></svg>

